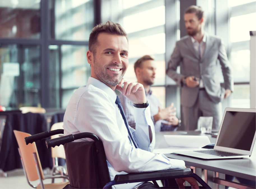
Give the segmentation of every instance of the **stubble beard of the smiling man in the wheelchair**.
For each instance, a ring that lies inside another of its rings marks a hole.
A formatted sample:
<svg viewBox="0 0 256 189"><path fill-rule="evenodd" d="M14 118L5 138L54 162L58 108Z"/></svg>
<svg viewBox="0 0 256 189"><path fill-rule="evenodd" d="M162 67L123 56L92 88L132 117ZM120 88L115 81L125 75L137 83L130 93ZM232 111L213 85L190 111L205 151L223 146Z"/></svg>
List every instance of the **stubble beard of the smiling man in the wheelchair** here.
<svg viewBox="0 0 256 189"><path fill-rule="evenodd" d="M120 67L122 69L121 71L123 71L122 74L119 77L113 77L107 73L107 70L105 70L104 67L102 67L97 60L94 59L93 64L94 64L93 68L94 68L95 75L105 84L107 83L109 85L116 86L118 83L120 83L121 79L124 76L124 73L125 73L124 66ZM111 64L109 64L109 66L111 67ZM116 64L113 64L112 66L117 67ZM113 74L113 75L118 75L118 74Z"/></svg>

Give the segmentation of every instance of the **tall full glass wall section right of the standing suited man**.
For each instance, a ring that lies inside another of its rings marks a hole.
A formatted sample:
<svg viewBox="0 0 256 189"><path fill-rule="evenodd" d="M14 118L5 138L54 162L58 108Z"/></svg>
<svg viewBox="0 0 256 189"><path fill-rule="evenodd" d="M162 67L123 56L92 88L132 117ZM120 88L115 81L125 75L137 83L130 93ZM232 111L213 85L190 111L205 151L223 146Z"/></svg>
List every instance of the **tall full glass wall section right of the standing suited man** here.
<svg viewBox="0 0 256 189"><path fill-rule="evenodd" d="M230 63L234 77L231 107L250 108L250 31L256 30L256 1L230 1Z"/></svg>

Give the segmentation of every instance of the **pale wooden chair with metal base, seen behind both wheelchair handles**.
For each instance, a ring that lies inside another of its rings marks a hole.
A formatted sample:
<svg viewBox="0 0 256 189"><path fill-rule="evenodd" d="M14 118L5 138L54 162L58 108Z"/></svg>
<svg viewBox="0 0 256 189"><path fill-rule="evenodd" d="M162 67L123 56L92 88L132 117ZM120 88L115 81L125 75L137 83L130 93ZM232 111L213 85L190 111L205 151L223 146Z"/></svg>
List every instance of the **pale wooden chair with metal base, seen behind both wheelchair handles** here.
<svg viewBox="0 0 256 189"><path fill-rule="evenodd" d="M63 126L63 122L54 123L51 127L51 131L57 130L57 129L63 129L62 126ZM51 139L62 137L62 136L64 136L64 135L63 134L52 135ZM56 175L56 174L60 173L62 176L63 175L67 176L66 169L63 166L58 165L58 157L66 159L65 150L64 150L63 145L51 148L51 150L52 150L52 162L53 162L51 174ZM52 181L54 181L54 179Z"/></svg>

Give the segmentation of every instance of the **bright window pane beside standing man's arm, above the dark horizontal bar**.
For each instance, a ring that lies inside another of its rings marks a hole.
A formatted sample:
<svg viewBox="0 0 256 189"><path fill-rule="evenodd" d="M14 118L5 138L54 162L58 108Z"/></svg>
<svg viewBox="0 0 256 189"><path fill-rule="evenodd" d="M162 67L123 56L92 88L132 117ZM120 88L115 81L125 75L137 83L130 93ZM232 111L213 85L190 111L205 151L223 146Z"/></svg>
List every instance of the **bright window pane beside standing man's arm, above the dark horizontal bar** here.
<svg viewBox="0 0 256 189"><path fill-rule="evenodd" d="M249 82L250 50L231 51L230 55L234 82Z"/></svg>

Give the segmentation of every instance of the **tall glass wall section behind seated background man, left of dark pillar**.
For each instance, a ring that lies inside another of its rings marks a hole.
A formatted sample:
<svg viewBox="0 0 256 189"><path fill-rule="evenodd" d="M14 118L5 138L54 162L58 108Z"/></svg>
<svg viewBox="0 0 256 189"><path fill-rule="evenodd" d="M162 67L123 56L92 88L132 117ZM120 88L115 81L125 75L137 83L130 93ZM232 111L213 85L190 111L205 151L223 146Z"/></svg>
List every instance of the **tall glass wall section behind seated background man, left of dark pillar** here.
<svg viewBox="0 0 256 189"><path fill-rule="evenodd" d="M165 107L165 1L123 0L121 7L119 23L129 39L129 67L124 78L137 81L135 61L151 55L157 65L153 94Z"/></svg>

